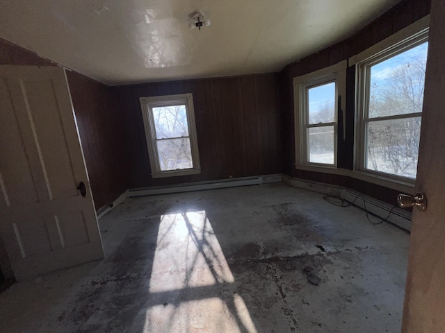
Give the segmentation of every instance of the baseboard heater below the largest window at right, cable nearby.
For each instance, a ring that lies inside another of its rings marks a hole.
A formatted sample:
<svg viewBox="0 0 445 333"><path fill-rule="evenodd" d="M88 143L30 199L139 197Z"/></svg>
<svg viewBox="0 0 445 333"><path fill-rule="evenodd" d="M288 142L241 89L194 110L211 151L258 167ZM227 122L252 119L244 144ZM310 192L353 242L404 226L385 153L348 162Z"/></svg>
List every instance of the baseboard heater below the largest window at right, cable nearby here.
<svg viewBox="0 0 445 333"><path fill-rule="evenodd" d="M363 194L350 189L342 189L340 196L343 200L353 203L362 209L364 209L364 206L366 205L366 210L368 210L368 212L380 216L382 219L385 219L392 210L391 214L387 217L387 221L394 223L405 230L411 231L412 214L410 212L398 207L394 208L394 206L391 206L388 203L371 198L370 196L364 196Z"/></svg>

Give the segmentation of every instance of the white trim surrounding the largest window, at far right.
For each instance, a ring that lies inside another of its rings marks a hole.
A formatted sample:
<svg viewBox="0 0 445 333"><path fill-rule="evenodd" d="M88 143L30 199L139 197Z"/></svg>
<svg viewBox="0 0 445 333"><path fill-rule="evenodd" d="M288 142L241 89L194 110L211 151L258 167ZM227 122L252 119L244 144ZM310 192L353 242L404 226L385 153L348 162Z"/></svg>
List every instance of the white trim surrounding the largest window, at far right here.
<svg viewBox="0 0 445 333"><path fill-rule="evenodd" d="M403 185L414 187L416 179L403 176L396 176L391 173L384 173L366 169L366 112L368 111L369 96L366 94L366 80L369 75L369 68L377 62L382 62L388 58L396 56L407 49L423 44L428 41L428 17L423 17L411 26L391 35L386 40L372 46L359 55L351 58L356 63L356 107L355 107L355 171L367 173L369 176L386 180L387 182L398 182ZM408 35L409 34L409 35ZM391 43L391 44L390 44ZM409 114L409 117L421 116L419 114ZM382 117L381 120L406 118L402 116Z"/></svg>

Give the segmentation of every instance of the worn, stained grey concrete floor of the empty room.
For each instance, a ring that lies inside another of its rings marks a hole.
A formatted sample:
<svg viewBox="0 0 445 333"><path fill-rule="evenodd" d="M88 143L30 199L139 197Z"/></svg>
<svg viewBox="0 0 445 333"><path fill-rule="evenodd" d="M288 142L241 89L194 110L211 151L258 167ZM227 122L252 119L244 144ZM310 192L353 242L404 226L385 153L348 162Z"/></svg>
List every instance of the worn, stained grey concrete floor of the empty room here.
<svg viewBox="0 0 445 333"><path fill-rule="evenodd" d="M0 331L400 332L409 234L322 197L128 199L99 221L105 259L0 294Z"/></svg>

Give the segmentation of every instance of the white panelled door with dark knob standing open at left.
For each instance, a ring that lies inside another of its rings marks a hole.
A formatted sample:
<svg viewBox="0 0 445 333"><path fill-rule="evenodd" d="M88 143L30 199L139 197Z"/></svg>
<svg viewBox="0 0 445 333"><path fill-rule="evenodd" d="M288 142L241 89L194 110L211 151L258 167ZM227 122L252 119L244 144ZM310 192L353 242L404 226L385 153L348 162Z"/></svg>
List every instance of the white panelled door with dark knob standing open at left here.
<svg viewBox="0 0 445 333"><path fill-rule="evenodd" d="M62 67L0 66L0 187L17 280L104 257Z"/></svg>

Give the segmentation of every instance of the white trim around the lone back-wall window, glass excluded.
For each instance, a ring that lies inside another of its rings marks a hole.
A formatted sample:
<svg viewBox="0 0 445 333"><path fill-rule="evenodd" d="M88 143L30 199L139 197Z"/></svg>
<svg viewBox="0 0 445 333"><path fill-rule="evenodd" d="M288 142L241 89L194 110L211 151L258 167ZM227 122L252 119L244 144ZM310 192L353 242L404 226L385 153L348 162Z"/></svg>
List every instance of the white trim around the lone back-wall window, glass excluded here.
<svg viewBox="0 0 445 333"><path fill-rule="evenodd" d="M200 154L197 145L195 110L193 108L193 94L177 94L154 97L140 97L140 108L145 128L145 137L147 139L147 148L150 160L150 167L152 168L153 178L173 177L173 176L187 176L201 173ZM156 129L154 126L152 108L170 106L170 105L186 105L188 137L191 144L191 154L193 160L193 168L162 171L159 164L158 149L156 146Z"/></svg>

